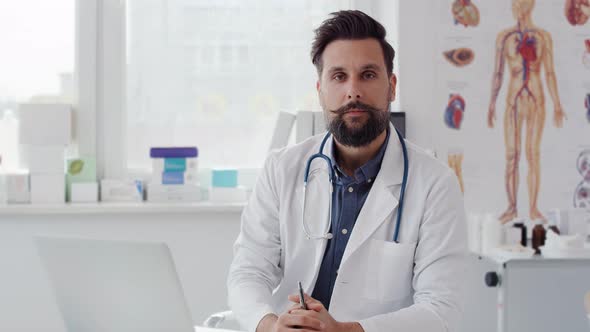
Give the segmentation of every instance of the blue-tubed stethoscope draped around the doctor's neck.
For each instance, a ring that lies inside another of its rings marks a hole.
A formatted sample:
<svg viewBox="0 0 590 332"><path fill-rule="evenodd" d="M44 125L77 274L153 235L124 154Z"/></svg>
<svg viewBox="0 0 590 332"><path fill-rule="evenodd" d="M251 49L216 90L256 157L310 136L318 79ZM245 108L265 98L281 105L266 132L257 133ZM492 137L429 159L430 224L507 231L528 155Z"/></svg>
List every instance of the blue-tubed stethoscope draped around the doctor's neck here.
<svg viewBox="0 0 590 332"><path fill-rule="evenodd" d="M408 150L406 149L406 143L404 142L404 138L402 137L402 135L400 134L400 132L395 129L395 132L397 134L397 137L399 138L399 142L402 146L402 152L404 155L404 176L403 176L403 180L402 180L402 187L400 190L400 195L399 195L399 204L397 207L397 221L395 223L395 232L393 234L393 241L395 243L398 243L398 237L399 237L399 228L400 228L400 224L401 224L401 220L402 220L402 210L404 207L404 194L406 192L406 184L408 181ZM326 141L328 140L328 138L330 137L330 133L328 132L326 134L326 136L324 136L324 139L322 140L322 144L320 145L320 151L314 155L312 155L311 157L309 157L309 159L307 160L307 166L305 167L305 175L303 177L303 211L301 214L301 224L303 225L303 231L305 232L305 235L307 236L308 239L313 239L313 240L330 240L334 237L334 235L332 233L330 233L330 228L332 227L332 190L333 190L333 183L334 183L334 179L335 179L335 174L334 174L334 168L332 167L332 161L330 160L330 158L328 156L326 156L322 151L324 150L324 145L326 145ZM305 200L305 196L307 194L307 180L309 179L309 169L311 167L311 163L315 160L315 159L323 159L327 164L328 164L328 170L330 172L330 195L329 195L329 206L328 206L328 222L326 223L326 228L324 229L324 232L322 235L313 235L311 234L309 228L307 227L307 224L305 223L305 205L306 205L306 200Z"/></svg>

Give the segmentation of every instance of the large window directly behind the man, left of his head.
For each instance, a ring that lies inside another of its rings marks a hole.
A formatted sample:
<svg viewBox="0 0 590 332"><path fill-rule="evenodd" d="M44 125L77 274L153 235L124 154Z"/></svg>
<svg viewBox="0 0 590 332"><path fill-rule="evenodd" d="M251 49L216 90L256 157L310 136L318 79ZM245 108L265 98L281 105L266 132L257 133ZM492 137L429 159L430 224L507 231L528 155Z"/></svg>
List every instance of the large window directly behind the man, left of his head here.
<svg viewBox="0 0 590 332"><path fill-rule="evenodd" d="M350 3L128 0L127 167L173 145L200 167L261 167L279 111L320 109L313 29Z"/></svg>

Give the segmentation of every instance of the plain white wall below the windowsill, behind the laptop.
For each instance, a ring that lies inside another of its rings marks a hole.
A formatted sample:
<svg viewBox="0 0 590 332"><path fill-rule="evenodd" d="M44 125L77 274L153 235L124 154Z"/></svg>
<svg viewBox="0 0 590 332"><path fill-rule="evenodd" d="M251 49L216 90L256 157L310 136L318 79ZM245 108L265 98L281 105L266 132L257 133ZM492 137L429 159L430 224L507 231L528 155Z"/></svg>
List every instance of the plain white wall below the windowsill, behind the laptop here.
<svg viewBox="0 0 590 332"><path fill-rule="evenodd" d="M39 214L0 211L0 331L64 330L35 235L166 242L183 285L193 321L227 310L225 279L240 208L183 211L77 211Z"/></svg>

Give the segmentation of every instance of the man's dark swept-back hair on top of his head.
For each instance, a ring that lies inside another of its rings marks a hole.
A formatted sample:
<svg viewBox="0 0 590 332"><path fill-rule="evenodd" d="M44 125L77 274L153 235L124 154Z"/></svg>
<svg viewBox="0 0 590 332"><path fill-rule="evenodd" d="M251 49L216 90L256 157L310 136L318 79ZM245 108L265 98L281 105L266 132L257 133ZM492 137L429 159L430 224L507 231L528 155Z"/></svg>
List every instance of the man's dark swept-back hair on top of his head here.
<svg viewBox="0 0 590 332"><path fill-rule="evenodd" d="M375 38L383 50L383 59L387 67L387 74L393 73L393 58L395 51L385 40L387 32L381 23L359 10L342 10L331 13L332 17L325 20L315 30L315 38L311 45L311 62L318 74L322 73L324 65L322 54L328 44L335 40L358 40Z"/></svg>

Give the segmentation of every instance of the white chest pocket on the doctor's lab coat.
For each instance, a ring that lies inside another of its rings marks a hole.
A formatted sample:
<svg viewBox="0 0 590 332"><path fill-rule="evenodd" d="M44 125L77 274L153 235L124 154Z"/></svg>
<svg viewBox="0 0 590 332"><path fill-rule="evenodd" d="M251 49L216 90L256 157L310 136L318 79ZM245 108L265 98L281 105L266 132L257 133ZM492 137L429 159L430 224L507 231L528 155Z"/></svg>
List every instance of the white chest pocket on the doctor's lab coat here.
<svg viewBox="0 0 590 332"><path fill-rule="evenodd" d="M383 302L408 297L412 292L416 243L370 239L367 245L364 297Z"/></svg>

